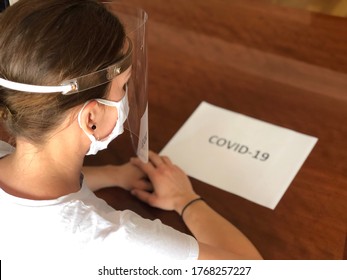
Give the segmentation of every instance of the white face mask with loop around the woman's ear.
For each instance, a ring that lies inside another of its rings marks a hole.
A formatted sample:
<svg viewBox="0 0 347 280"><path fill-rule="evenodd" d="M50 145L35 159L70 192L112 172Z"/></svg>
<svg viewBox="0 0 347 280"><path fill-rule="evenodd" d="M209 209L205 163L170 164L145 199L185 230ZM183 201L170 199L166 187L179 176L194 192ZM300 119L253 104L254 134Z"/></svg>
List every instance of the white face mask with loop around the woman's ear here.
<svg viewBox="0 0 347 280"><path fill-rule="evenodd" d="M110 144L112 140L114 140L118 135L122 134L124 131L123 124L129 114L128 87L126 87L126 93L124 97L122 98L122 100L118 102L110 101L106 99L95 99L95 100L100 104L117 108L118 120L112 132L110 133L110 135L108 135L106 138L102 140L97 140L94 137L94 135L88 134L81 125L81 113L83 109L85 108L85 106L93 100L89 100L83 105L81 111L78 113L78 124L91 141L90 148L88 152L86 153L86 155L95 155L98 151L106 149L108 144Z"/></svg>

